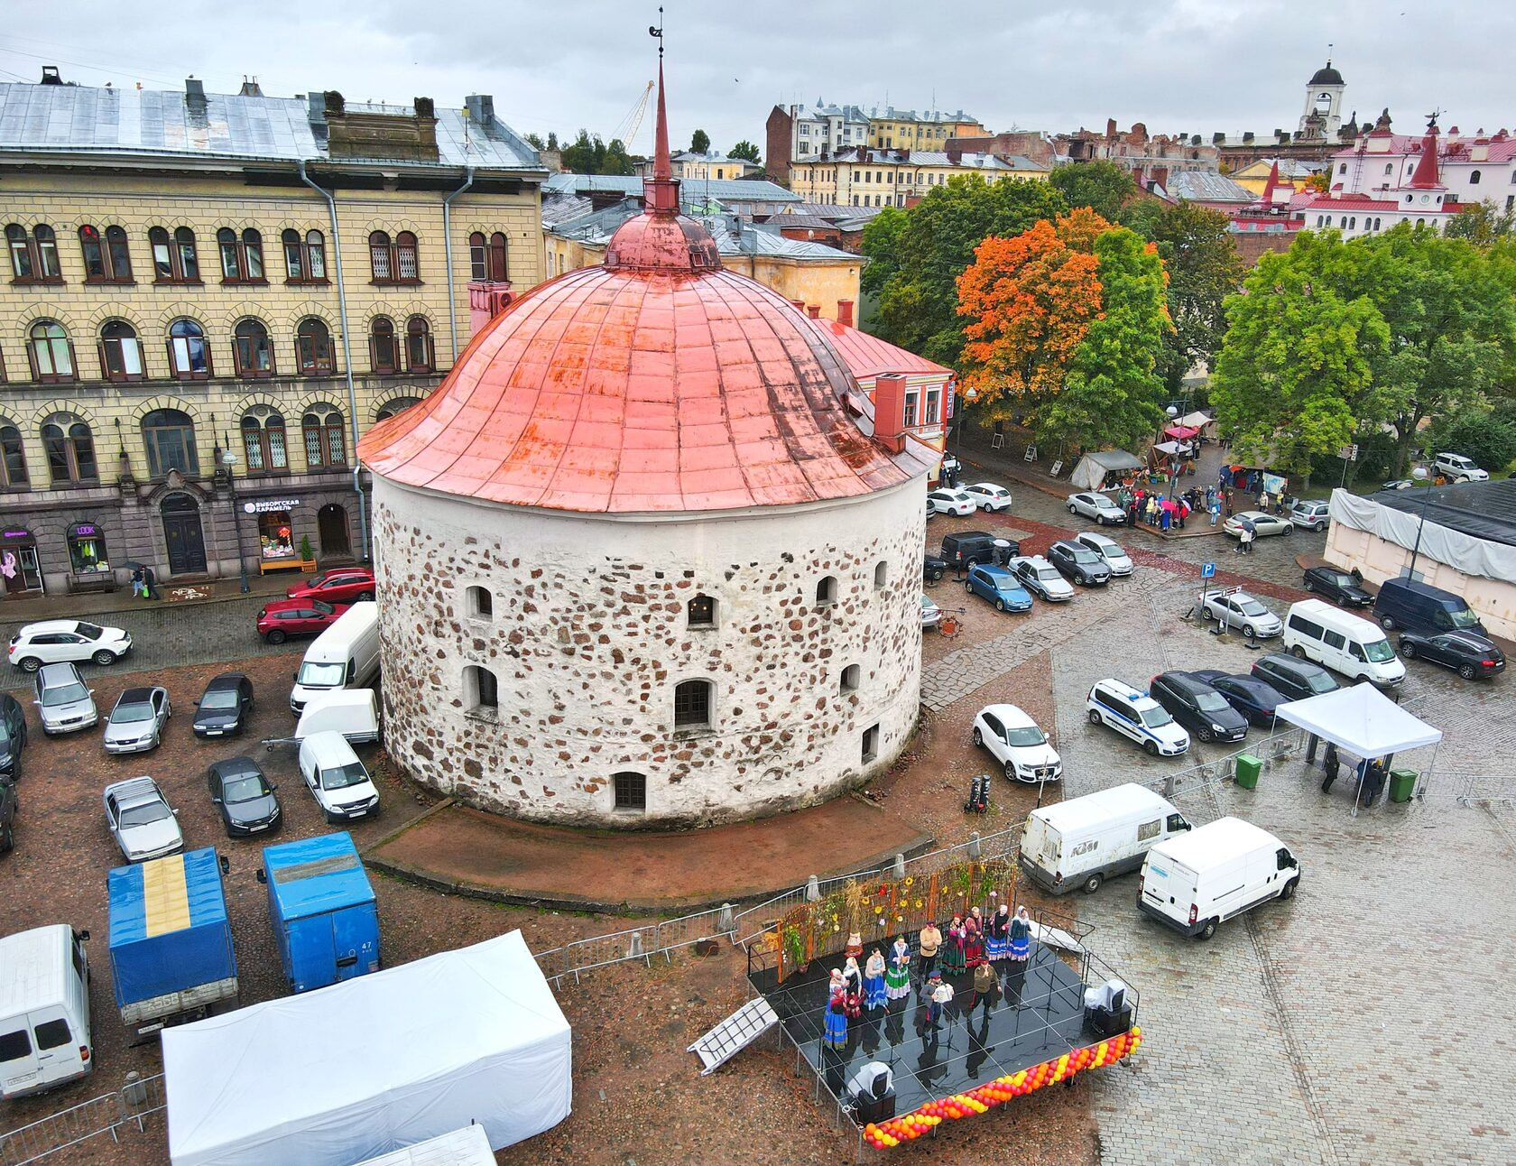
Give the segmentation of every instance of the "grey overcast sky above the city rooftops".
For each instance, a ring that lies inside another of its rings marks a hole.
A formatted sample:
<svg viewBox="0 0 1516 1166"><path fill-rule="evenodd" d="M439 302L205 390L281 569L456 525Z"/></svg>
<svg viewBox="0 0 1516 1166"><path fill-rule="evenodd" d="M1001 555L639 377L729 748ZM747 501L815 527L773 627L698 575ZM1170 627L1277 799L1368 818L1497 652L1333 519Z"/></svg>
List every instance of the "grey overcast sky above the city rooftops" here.
<svg viewBox="0 0 1516 1166"><path fill-rule="evenodd" d="M1404 8L1402 8L1404 5ZM1389 106L1416 132L1516 130L1516 5L1410 0L666 0L675 147L763 147L773 105L960 106L993 130L1101 129L1264 135L1295 129L1305 82L1333 58L1343 115ZM6 5L0 79L56 64L86 85L235 92L340 89L350 100L462 103L494 94L520 132L626 129L656 70L644 0L20 0ZM424 23L423 23L424 21ZM647 153L652 115L634 152Z"/></svg>

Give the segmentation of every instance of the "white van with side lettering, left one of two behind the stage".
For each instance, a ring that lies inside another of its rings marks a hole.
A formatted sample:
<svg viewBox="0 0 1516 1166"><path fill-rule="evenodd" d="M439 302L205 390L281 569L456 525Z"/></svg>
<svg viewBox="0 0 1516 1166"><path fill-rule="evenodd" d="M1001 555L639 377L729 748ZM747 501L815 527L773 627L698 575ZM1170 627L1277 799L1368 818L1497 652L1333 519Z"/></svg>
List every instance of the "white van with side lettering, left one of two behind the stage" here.
<svg viewBox="0 0 1516 1166"><path fill-rule="evenodd" d="M1151 846L1189 829L1166 799L1128 782L1032 810L1022 834L1022 870L1052 895L1075 887L1093 895L1105 879L1140 867Z"/></svg>

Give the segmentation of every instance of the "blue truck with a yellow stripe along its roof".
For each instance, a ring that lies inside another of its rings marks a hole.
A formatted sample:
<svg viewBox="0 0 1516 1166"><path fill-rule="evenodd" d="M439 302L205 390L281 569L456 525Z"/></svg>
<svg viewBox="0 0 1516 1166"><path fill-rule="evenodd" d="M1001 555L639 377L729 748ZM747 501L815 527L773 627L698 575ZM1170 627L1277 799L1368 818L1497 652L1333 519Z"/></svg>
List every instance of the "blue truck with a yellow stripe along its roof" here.
<svg viewBox="0 0 1516 1166"><path fill-rule="evenodd" d="M108 878L111 978L133 1043L236 1004L236 955L214 848Z"/></svg>

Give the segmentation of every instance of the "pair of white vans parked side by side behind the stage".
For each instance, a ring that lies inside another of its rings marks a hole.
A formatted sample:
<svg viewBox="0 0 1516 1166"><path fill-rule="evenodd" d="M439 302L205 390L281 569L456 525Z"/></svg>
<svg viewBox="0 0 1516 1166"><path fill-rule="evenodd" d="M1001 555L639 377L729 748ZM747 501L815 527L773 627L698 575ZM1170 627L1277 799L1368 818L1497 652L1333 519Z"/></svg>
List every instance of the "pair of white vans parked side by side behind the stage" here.
<svg viewBox="0 0 1516 1166"><path fill-rule="evenodd" d="M1266 829L1237 817L1192 826L1167 799L1131 782L1034 810L1020 864L1052 895L1093 893L1140 869L1142 913L1199 939L1261 902L1289 899L1301 882L1299 861Z"/></svg>

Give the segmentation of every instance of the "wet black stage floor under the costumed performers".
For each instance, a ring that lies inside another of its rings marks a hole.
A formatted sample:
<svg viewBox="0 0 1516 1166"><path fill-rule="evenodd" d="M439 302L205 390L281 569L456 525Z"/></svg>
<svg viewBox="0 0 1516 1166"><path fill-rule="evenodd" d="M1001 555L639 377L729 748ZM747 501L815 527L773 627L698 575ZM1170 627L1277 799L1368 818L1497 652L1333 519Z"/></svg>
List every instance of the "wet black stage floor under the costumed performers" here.
<svg viewBox="0 0 1516 1166"><path fill-rule="evenodd" d="M911 936L911 949L916 949ZM1084 1031L1084 981L1058 952L1032 943L1025 970L1002 960L994 987L978 995L973 973L943 976L954 999L937 1025L926 1019L928 1001L920 976L911 975L911 995L885 1008L864 1008L847 1027L847 1046L822 1042L831 969L841 955L816 958L805 972L782 984L773 970L750 972L749 980L779 1016L785 1033L811 1069L840 1101L847 1081L869 1061L884 1061L894 1074L897 1114L964 1093L994 1078L1057 1060L1098 1036Z"/></svg>

